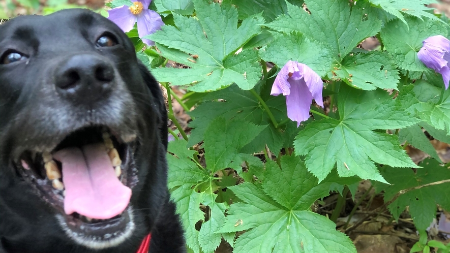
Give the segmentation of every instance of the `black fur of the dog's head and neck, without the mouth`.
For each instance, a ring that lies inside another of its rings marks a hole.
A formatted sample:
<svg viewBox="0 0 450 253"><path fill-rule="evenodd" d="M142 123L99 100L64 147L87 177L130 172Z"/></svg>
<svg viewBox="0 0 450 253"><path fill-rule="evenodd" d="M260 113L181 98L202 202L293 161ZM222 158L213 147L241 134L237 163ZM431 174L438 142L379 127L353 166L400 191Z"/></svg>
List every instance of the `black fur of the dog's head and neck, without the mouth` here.
<svg viewBox="0 0 450 253"><path fill-rule="evenodd" d="M117 45L96 45L104 35ZM149 232L149 252L185 252L166 186L167 113L162 92L122 30L82 9L20 16L0 25L0 55L10 52L24 58L10 64L2 64L0 58L0 252L132 253ZM77 55L84 57L82 71L96 62L112 67L107 87L58 86L58 71ZM130 201L136 228L125 242L103 249L68 237L55 218L58 211L17 172L16 159L24 150L55 146L88 125L136 134L139 142L134 155L139 181Z"/></svg>

